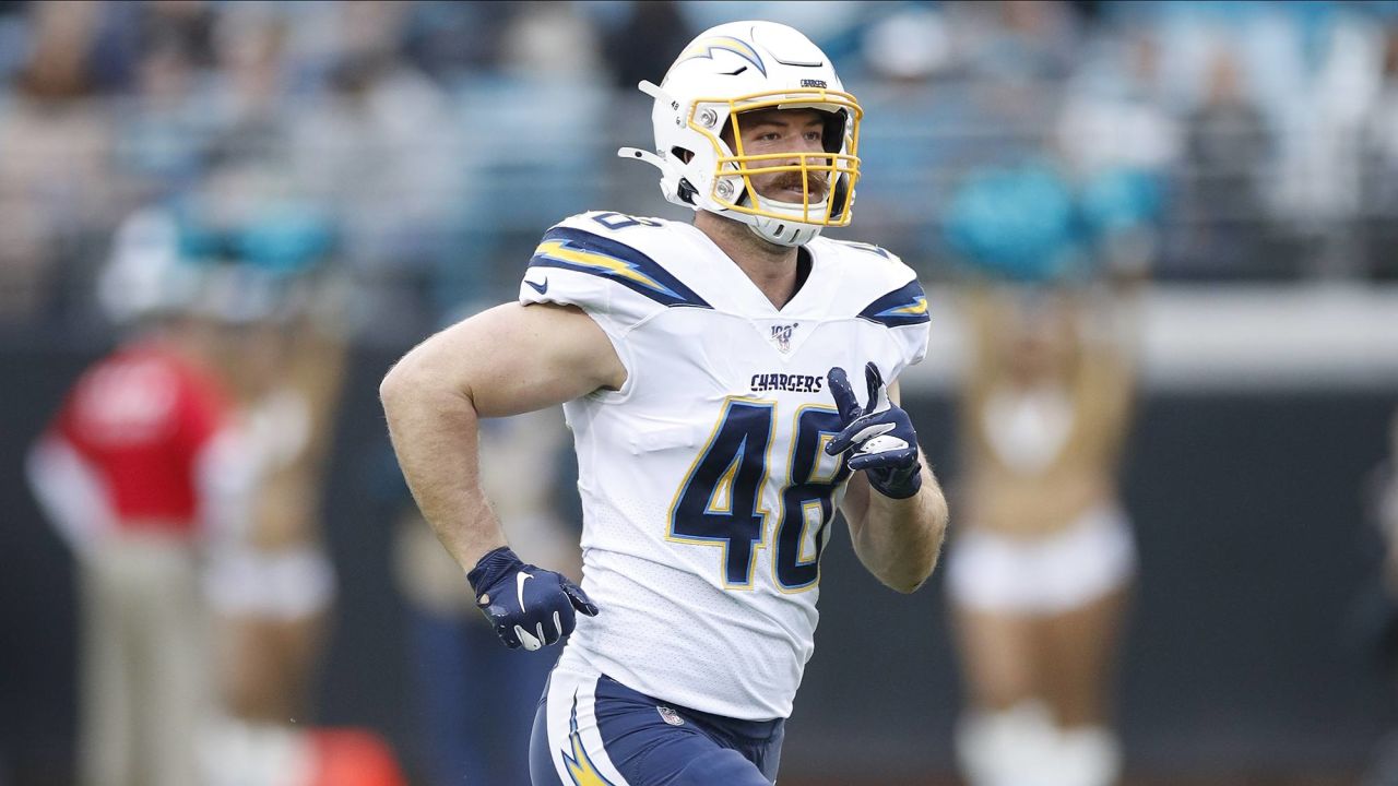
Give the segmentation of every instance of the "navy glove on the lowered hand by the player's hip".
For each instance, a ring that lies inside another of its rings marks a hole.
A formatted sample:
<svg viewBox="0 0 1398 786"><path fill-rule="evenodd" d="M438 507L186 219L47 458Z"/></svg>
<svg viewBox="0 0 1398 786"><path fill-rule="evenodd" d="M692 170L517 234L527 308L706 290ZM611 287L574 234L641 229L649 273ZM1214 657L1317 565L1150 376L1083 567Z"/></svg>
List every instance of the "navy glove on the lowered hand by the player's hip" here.
<svg viewBox="0 0 1398 786"><path fill-rule="evenodd" d="M507 545L491 551L466 575L475 604L510 649L538 649L573 632L575 610L597 615L597 606L568 578L520 562Z"/></svg>

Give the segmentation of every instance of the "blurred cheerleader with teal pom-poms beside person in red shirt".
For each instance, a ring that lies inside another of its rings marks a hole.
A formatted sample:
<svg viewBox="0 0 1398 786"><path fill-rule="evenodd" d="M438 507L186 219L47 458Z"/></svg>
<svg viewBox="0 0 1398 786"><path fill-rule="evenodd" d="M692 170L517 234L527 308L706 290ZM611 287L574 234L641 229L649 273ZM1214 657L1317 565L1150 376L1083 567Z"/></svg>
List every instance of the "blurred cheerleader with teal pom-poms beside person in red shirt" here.
<svg viewBox="0 0 1398 786"><path fill-rule="evenodd" d="M206 308L236 327L219 361L254 459L254 498L210 559L219 698L232 724L271 727L309 716L336 593L319 506L344 366L322 285L334 229L277 185L259 168L221 169L179 211L180 253L210 280Z"/></svg>

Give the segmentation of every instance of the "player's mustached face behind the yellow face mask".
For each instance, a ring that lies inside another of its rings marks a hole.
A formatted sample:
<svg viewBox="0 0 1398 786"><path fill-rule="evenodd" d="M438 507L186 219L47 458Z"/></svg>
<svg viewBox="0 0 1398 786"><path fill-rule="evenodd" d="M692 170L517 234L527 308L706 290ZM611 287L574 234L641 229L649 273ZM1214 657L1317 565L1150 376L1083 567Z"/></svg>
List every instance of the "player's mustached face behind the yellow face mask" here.
<svg viewBox="0 0 1398 786"><path fill-rule="evenodd" d="M738 136L742 140L742 154L766 155L774 152L825 152L825 115L815 109L759 109L744 112L737 119ZM737 148L733 138L733 126L723 133L728 147ZM807 159L809 164L811 159ZM829 164L829 159L819 161ZM798 165L800 158L790 161L772 159L755 166ZM811 201L818 203L825 199L829 180L825 172L807 172L809 182ZM752 187L758 194L784 203L800 204L805 199L801 172L772 172L768 175L754 175Z"/></svg>

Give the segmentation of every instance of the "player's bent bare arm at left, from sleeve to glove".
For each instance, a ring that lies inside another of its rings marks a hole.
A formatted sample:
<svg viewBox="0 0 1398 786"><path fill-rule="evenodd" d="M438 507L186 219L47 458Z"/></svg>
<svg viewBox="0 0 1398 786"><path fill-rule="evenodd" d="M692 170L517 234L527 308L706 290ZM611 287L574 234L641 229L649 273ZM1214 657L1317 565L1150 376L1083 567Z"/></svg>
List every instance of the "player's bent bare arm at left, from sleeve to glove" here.
<svg viewBox="0 0 1398 786"><path fill-rule="evenodd" d="M412 351L379 387L418 508L463 569L505 536L481 492L478 421L541 410L626 380L607 334L573 306L506 303Z"/></svg>

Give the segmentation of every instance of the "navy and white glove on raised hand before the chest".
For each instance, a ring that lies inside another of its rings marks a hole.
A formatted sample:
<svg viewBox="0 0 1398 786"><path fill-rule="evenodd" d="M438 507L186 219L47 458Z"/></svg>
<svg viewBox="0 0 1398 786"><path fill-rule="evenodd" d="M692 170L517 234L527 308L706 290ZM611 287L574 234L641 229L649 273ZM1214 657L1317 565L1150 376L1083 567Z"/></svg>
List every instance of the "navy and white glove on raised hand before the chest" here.
<svg viewBox="0 0 1398 786"><path fill-rule="evenodd" d="M902 407L889 401L888 386L878 366L867 364L864 379L868 382L868 406L860 407L850 378L844 369L835 366L828 376L835 406L840 408L844 429L825 446L825 452L837 456L853 449L846 466L864 470L870 485L884 496L906 499L923 487L923 466L917 460L917 432L913 421Z"/></svg>

